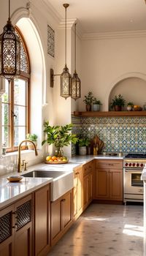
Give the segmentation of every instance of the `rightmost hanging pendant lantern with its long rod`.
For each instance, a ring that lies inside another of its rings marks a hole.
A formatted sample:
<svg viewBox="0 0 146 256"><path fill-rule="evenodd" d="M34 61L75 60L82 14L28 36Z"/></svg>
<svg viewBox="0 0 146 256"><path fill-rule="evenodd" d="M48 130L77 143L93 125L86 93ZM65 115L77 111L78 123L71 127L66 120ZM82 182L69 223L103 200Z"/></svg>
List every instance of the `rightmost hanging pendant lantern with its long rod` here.
<svg viewBox="0 0 146 256"><path fill-rule="evenodd" d="M80 98L80 78L76 72L76 23L74 27L74 75L72 76L72 85L71 85L71 97L72 99Z"/></svg>

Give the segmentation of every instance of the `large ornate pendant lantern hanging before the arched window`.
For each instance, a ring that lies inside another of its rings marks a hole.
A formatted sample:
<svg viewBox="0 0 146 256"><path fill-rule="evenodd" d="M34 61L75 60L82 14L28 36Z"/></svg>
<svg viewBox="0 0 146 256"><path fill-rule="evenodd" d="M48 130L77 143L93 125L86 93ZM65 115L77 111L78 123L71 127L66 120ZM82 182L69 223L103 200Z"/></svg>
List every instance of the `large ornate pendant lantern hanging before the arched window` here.
<svg viewBox="0 0 146 256"><path fill-rule="evenodd" d="M10 82L17 75L20 75L20 39L10 20L9 0L9 18L0 35L0 76Z"/></svg>

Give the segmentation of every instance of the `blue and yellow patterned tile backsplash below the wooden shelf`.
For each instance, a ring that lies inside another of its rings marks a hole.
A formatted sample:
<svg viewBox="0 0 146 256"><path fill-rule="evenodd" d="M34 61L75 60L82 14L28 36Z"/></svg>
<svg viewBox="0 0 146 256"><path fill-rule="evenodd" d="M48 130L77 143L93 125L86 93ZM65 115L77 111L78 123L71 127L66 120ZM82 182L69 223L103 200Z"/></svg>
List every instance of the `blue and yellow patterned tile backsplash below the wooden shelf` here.
<svg viewBox="0 0 146 256"><path fill-rule="evenodd" d="M72 116L73 133L104 141L105 152L146 153L146 117L87 118ZM74 154L74 147L72 154Z"/></svg>

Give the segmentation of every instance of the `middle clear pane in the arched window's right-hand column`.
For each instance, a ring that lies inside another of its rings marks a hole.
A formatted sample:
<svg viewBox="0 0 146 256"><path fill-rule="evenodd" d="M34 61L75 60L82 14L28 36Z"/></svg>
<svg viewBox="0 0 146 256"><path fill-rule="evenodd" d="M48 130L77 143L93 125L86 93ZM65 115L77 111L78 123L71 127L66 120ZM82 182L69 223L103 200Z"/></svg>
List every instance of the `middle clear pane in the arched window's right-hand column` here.
<svg viewBox="0 0 146 256"><path fill-rule="evenodd" d="M26 126L26 107L14 106L14 125Z"/></svg>

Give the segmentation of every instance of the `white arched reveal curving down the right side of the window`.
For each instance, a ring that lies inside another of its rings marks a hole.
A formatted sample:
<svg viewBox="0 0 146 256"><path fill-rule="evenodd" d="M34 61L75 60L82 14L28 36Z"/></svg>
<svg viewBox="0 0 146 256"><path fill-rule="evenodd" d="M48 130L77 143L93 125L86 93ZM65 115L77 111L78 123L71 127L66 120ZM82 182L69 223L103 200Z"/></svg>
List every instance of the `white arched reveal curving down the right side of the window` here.
<svg viewBox="0 0 146 256"><path fill-rule="evenodd" d="M28 48L31 63L30 132L38 135L38 147L41 148L42 106L46 104L46 64L41 33L36 20L25 9L17 10L12 14L12 23L22 32Z"/></svg>

